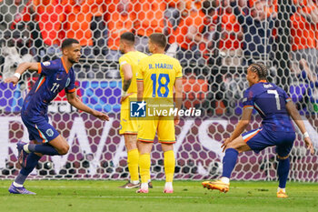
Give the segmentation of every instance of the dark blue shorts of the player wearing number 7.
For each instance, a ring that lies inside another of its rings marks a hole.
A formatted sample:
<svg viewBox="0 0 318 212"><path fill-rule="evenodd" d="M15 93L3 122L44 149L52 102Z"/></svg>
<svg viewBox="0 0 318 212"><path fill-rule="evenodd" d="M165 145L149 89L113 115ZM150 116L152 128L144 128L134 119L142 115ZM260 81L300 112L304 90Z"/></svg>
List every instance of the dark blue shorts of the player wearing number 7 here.
<svg viewBox="0 0 318 212"><path fill-rule="evenodd" d="M263 127L243 133L242 136L255 153L259 153L267 146L276 146L278 156L288 156L295 139L294 132L268 131Z"/></svg>

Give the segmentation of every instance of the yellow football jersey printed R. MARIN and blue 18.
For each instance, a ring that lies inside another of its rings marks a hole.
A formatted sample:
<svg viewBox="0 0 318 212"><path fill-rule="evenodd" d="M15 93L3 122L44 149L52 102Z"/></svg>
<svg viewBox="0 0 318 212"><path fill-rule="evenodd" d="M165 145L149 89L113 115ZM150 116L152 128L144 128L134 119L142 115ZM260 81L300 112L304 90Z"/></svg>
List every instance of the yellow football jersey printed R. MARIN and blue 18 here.
<svg viewBox="0 0 318 212"><path fill-rule="evenodd" d="M173 99L175 79L182 76L182 67L177 59L154 54L140 61L137 81L144 82L144 98Z"/></svg>

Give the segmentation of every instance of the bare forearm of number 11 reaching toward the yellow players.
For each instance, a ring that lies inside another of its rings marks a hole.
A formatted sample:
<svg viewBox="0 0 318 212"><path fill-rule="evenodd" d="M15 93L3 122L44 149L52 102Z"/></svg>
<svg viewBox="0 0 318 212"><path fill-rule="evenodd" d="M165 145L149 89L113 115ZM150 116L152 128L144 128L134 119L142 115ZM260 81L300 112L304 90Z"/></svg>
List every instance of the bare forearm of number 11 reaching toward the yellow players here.
<svg viewBox="0 0 318 212"><path fill-rule="evenodd" d="M107 115L105 115L102 112L98 112L92 108L90 108L89 106L85 106L84 103L76 96L75 92L67 94L66 93L66 97L67 97L67 101L69 102L69 104L71 104L72 106L75 106L77 109L82 110L86 113L89 113L95 117L98 117L99 119L103 120L103 121L108 121L109 117Z"/></svg>

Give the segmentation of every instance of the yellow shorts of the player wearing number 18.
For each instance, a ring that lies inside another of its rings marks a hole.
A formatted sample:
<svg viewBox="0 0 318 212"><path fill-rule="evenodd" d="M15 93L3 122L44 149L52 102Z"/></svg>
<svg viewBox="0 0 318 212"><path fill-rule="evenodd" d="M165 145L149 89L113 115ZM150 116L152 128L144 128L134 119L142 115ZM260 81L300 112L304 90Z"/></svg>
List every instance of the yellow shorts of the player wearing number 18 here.
<svg viewBox="0 0 318 212"><path fill-rule="evenodd" d="M159 143L174 144L174 119L160 116L154 120L138 121L138 140L148 143L154 142L155 131L157 131Z"/></svg>

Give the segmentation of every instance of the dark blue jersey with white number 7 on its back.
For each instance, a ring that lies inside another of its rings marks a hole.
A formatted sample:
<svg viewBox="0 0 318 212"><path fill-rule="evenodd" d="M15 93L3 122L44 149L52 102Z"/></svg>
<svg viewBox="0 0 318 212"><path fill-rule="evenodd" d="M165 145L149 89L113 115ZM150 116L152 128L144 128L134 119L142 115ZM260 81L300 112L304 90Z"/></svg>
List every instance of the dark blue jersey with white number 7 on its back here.
<svg viewBox="0 0 318 212"><path fill-rule="evenodd" d="M243 105L256 109L265 128L289 132L294 130L286 110L286 103L290 100L281 87L262 80L245 91Z"/></svg>

